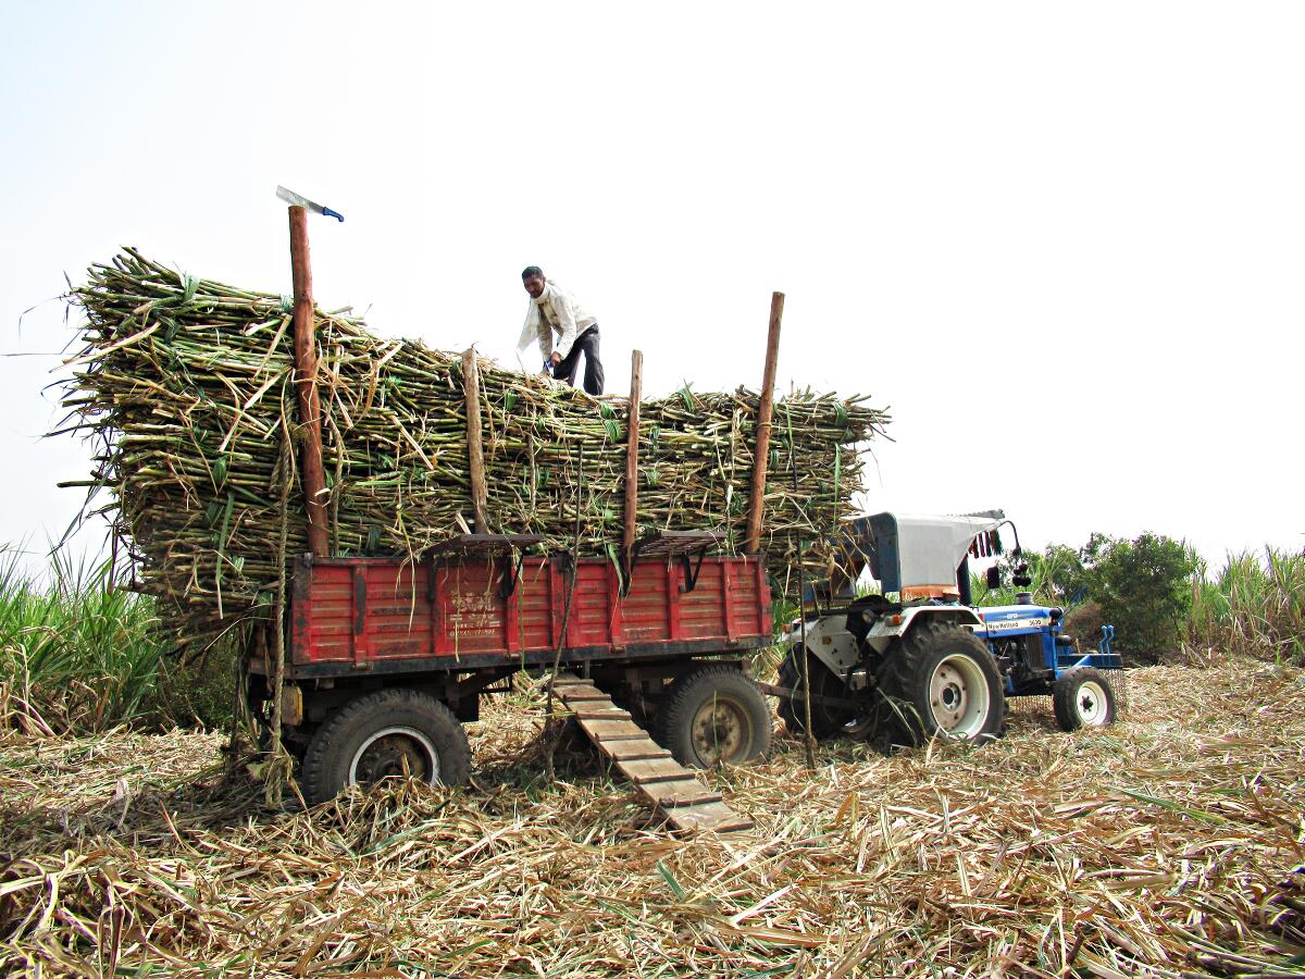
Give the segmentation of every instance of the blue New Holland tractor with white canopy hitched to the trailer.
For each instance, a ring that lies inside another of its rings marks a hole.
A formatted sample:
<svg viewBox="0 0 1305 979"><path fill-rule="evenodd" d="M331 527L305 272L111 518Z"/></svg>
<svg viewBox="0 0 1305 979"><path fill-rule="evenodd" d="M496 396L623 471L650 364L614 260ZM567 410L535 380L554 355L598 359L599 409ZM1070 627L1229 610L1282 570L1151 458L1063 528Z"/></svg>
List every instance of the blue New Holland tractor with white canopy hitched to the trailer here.
<svg viewBox="0 0 1305 979"><path fill-rule="evenodd" d="M1111 671L1122 667L1109 634L1079 649L1062 632L1064 610L1019 593L1013 606L974 607L970 560L1002 551L1001 510L960 517L878 513L850 523L839 542L840 573L810 597L818 611L786 629L779 715L790 731L817 738L886 734L983 740L1001 734L1007 697L1051 694L1065 731L1114 721ZM853 597L869 568L882 594ZM988 569L988 586L1001 572ZM1028 585L1017 564L1013 583ZM894 598L895 595L895 598ZM805 654L805 663L803 657ZM809 676L810 697L805 696Z"/></svg>

